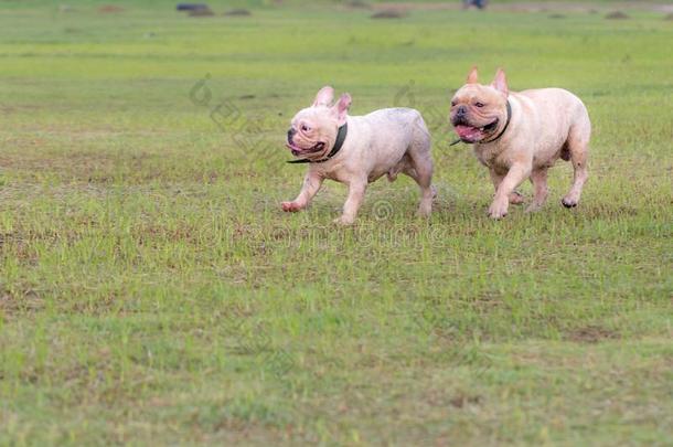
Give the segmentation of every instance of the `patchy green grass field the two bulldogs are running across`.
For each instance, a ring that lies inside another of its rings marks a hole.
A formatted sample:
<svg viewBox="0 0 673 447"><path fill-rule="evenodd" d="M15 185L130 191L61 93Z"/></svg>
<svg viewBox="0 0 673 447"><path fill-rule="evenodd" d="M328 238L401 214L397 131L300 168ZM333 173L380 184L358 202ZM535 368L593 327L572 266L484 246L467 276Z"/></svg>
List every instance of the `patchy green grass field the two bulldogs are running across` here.
<svg viewBox="0 0 673 447"><path fill-rule="evenodd" d="M0 445L671 445L665 13L270 3L0 1ZM448 146L473 64L585 100L580 206L559 163L542 212L487 217ZM429 221L407 178L350 228L333 182L280 211L306 169L285 131L325 84L352 115L421 110Z"/></svg>

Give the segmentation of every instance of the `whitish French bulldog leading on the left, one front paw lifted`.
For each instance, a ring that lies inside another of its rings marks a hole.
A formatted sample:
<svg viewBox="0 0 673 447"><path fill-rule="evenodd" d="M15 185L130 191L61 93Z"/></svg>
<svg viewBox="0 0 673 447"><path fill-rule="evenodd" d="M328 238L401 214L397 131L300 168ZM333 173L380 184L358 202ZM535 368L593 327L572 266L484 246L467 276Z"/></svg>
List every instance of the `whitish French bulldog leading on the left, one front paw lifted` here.
<svg viewBox="0 0 673 447"><path fill-rule="evenodd" d="M303 187L282 210L296 212L309 205L324 179L349 187L343 214L334 222L354 222L368 183L387 174L394 181L399 172L420 187L418 214L431 212L435 189L431 185L432 158L430 135L417 110L385 108L364 116L349 116L351 96L343 94L332 105L334 89L322 87L311 107L300 110L291 121L287 147L306 162Z"/></svg>

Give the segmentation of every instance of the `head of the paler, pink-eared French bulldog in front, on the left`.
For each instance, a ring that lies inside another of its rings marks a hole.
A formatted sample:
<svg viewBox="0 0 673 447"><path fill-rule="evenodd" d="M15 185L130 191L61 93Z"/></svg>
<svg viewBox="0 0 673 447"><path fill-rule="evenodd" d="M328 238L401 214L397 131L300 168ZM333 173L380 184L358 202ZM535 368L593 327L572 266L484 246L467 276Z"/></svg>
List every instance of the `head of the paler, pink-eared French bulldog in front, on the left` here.
<svg viewBox="0 0 673 447"><path fill-rule="evenodd" d="M295 157L320 160L332 150L339 127L346 121L351 96L344 93L332 105L333 99L334 89L330 86L322 87L316 95L313 105L295 115L286 145Z"/></svg>

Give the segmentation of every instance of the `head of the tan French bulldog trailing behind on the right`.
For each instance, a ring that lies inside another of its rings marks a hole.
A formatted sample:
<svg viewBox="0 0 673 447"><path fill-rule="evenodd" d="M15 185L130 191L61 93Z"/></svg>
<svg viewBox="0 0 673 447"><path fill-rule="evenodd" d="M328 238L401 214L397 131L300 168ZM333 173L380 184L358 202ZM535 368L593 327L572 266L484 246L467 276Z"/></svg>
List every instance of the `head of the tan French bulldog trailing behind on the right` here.
<svg viewBox="0 0 673 447"><path fill-rule="evenodd" d="M451 99L450 120L462 141L487 141L498 135L508 119L509 92L502 68L491 85L479 84L477 67L472 68Z"/></svg>

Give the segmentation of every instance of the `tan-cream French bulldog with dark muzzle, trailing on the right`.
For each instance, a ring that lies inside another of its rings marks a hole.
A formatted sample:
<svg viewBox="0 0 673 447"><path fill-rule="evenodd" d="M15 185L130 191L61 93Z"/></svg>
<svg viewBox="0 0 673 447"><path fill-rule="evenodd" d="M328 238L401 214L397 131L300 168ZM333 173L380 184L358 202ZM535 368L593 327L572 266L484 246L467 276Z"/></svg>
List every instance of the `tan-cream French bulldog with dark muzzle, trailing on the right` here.
<svg viewBox="0 0 673 447"><path fill-rule="evenodd" d="M491 85L478 83L477 67L451 100L450 120L463 142L474 145L479 161L489 168L495 198L489 215L501 219L510 203L523 202L515 192L526 178L533 183L537 211L547 198L547 170L559 158L571 161L575 180L563 198L576 206L587 181L587 156L591 123L583 102L560 88L510 92L499 70Z"/></svg>

